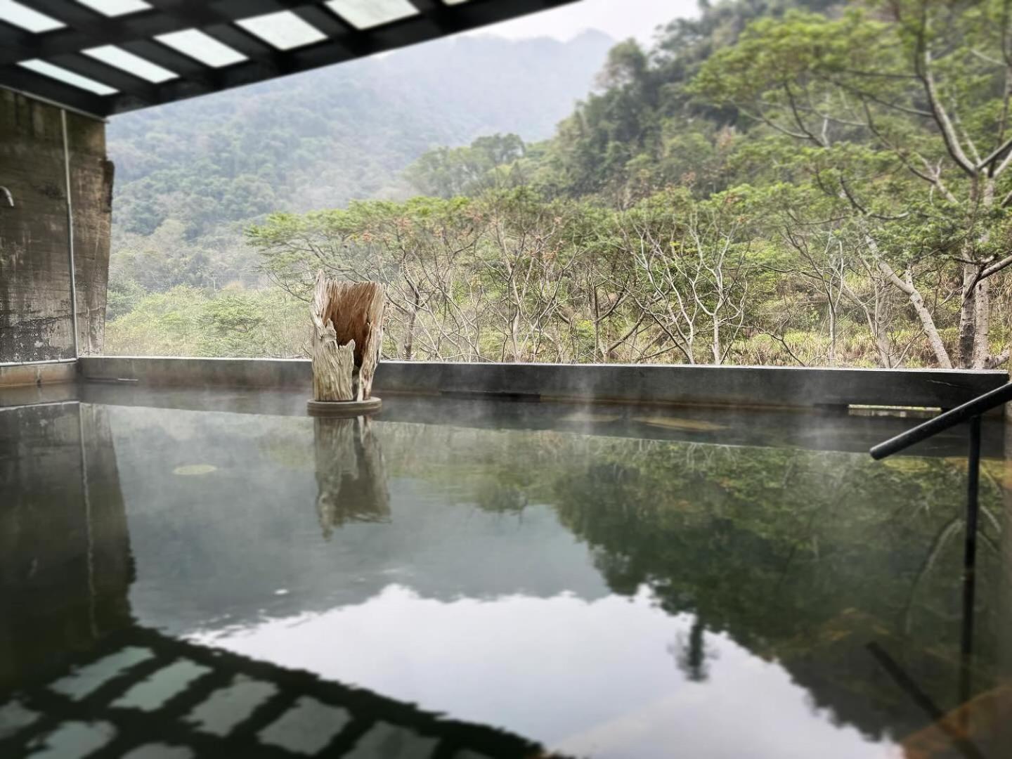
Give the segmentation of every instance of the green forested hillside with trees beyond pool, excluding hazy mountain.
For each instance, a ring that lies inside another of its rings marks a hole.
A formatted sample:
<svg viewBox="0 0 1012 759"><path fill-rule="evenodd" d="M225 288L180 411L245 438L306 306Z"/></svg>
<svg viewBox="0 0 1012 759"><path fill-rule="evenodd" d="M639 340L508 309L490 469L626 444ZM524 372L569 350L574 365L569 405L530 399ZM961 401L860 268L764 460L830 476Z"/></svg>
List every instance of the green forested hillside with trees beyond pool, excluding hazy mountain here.
<svg viewBox="0 0 1012 759"><path fill-rule="evenodd" d="M398 180L417 197L247 225L274 286L138 289L109 349L298 354L322 266L388 283L391 357L1001 365L1007 10L701 5L612 47L549 139L496 124L420 155Z"/></svg>

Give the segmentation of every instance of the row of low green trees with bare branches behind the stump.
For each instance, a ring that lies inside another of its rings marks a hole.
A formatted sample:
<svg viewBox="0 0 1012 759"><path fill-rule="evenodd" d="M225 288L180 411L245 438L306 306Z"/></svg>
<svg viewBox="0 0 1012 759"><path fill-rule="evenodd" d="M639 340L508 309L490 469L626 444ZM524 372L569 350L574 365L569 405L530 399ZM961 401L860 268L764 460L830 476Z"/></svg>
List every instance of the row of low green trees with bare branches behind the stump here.
<svg viewBox="0 0 1012 759"><path fill-rule="evenodd" d="M389 356L723 362L753 308L747 279L771 286L748 202L671 189L616 213L500 189L273 215L248 239L296 298L320 269L384 282Z"/></svg>

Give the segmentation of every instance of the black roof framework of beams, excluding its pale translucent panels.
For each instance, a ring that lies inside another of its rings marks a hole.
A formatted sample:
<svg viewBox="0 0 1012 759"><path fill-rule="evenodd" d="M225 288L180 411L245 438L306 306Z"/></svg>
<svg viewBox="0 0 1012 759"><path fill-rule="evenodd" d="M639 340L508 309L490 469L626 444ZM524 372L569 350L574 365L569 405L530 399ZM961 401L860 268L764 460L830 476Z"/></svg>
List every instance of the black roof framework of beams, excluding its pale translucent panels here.
<svg viewBox="0 0 1012 759"><path fill-rule="evenodd" d="M441 0L410 0L418 9L417 15L374 28L356 29L332 13L322 0L148 0L153 6L150 10L111 18L73 0L19 0L57 18L67 24L67 28L32 34L12 30L0 23L0 41L13 43L0 45L0 85L32 91L17 84L26 82L30 74L30 82L40 88L35 91L41 96L98 115L109 115L330 66L574 1L471 0L445 5ZM296 13L328 38L279 51L234 23L280 10ZM200 29L247 60L214 68L153 38L157 34L189 28ZM152 84L131 72L79 55L84 50L103 45L116 45L174 72L178 78ZM50 61L119 92L94 95L15 65L29 58Z"/></svg>

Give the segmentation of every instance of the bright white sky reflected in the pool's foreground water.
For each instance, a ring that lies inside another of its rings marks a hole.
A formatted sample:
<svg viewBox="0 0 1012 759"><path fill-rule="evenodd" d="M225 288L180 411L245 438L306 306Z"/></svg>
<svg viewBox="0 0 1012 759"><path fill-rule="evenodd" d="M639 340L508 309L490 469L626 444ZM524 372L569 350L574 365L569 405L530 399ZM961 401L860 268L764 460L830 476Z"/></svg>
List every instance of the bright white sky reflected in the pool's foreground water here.
<svg viewBox="0 0 1012 759"><path fill-rule="evenodd" d="M892 756L813 707L775 662L704 634L707 676L678 666L693 618L644 590L585 601L443 602L389 585L361 604L197 640L347 680L576 756ZM734 725L734 730L728 730Z"/></svg>

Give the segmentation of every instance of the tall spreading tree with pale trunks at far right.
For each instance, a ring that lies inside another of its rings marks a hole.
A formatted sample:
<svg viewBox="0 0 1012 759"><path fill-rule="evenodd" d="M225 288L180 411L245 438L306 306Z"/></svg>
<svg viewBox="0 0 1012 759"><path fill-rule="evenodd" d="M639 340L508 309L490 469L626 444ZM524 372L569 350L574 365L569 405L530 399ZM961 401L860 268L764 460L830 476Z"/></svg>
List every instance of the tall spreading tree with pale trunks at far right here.
<svg viewBox="0 0 1012 759"><path fill-rule="evenodd" d="M990 280L1012 265L1009 23L1007 0L895 0L879 17L793 12L754 22L694 85L795 141L813 183L846 206L909 298L942 366L1008 358L992 354L989 333ZM954 351L914 276L941 257L961 269Z"/></svg>

